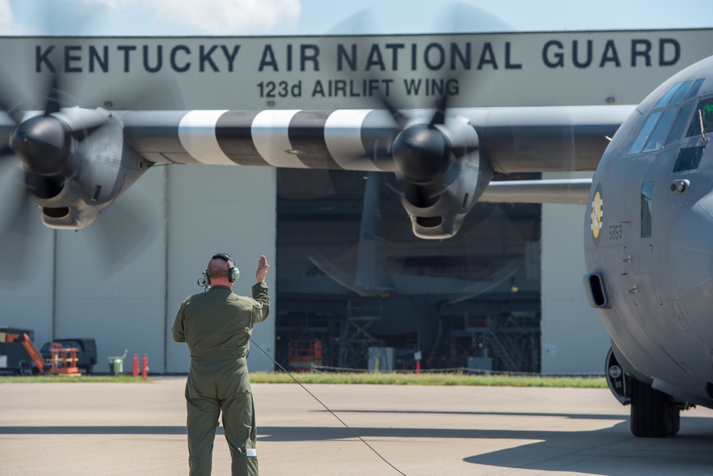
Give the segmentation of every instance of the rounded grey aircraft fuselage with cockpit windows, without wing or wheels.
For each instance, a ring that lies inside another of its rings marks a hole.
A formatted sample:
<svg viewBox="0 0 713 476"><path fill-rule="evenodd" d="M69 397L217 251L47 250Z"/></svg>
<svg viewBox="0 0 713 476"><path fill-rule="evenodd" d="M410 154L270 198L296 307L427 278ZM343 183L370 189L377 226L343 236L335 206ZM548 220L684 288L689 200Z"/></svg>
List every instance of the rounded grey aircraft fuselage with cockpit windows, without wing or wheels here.
<svg viewBox="0 0 713 476"><path fill-rule="evenodd" d="M585 217L588 276L599 276L585 287L602 293L594 305L617 361L635 380L708 407L713 150L706 135L713 130L712 76L708 58L638 106L597 167Z"/></svg>

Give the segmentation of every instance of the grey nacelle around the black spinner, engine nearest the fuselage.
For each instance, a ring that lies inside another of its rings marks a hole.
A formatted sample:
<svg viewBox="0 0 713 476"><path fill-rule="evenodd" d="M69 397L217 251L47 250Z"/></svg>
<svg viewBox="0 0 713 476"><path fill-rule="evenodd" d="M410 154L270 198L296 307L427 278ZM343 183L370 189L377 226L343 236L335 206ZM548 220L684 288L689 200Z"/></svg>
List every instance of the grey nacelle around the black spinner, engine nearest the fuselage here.
<svg viewBox="0 0 713 476"><path fill-rule="evenodd" d="M453 237L493 177L490 162L478 149L478 134L460 116L436 125L450 150L448 165L428 184L401 181L401 204L419 238Z"/></svg>

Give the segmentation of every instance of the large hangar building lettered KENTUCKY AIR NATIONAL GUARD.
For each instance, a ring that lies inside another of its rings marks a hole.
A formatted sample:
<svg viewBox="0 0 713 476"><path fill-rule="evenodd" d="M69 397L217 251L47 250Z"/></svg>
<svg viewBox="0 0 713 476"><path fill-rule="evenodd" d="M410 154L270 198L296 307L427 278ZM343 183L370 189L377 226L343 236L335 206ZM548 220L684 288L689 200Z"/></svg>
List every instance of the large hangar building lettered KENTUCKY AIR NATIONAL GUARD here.
<svg viewBox="0 0 713 476"><path fill-rule="evenodd" d="M0 97L42 110L57 73L63 105L108 110L379 108L379 98L424 108L444 90L453 107L635 104L712 43L711 30L0 38ZM21 203L16 162L2 160L10 210ZM581 283L585 207L476 205L456 237L423 242L390 180L156 165L78 232L43 227L36 209L16 232L4 212L0 325L33 329L38 345L96 338L100 364L127 350L148 354L151 372L184 373L188 351L170 329L207 259L235 257L236 291L249 294L265 254L272 316L253 339L283 365L289 342L318 338L332 366L364 367L369 348L393 348L394 368L423 351L434 368L602 371L609 339ZM367 217L378 234L361 232ZM383 259L365 271L365 253ZM399 291L364 298L335 286L364 272ZM445 301L438 289L456 281L471 292ZM274 368L255 348L249 365Z"/></svg>

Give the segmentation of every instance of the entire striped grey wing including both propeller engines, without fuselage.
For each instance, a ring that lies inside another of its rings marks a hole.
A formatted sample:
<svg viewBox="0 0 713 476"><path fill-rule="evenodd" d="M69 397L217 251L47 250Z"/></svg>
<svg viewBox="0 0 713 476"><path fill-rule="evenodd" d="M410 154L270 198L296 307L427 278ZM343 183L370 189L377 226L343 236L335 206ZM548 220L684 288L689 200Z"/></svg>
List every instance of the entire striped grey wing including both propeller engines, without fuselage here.
<svg viewBox="0 0 713 476"><path fill-rule="evenodd" d="M0 117L44 224L79 229L147 165L252 165L395 172L416 236L452 237L496 174L593 171L635 106L419 110L59 108ZM31 116L31 117L30 117ZM148 162L148 163L146 163ZM488 201L581 202L586 185L501 182Z"/></svg>

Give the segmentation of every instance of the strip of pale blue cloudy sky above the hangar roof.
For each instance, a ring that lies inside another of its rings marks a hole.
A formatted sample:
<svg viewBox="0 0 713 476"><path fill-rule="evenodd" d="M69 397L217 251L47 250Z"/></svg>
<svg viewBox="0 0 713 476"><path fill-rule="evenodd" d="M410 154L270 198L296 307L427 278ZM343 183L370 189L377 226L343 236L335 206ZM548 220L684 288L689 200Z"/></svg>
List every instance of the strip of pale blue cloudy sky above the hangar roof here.
<svg viewBox="0 0 713 476"><path fill-rule="evenodd" d="M712 0L0 0L5 36L687 28L713 28Z"/></svg>

